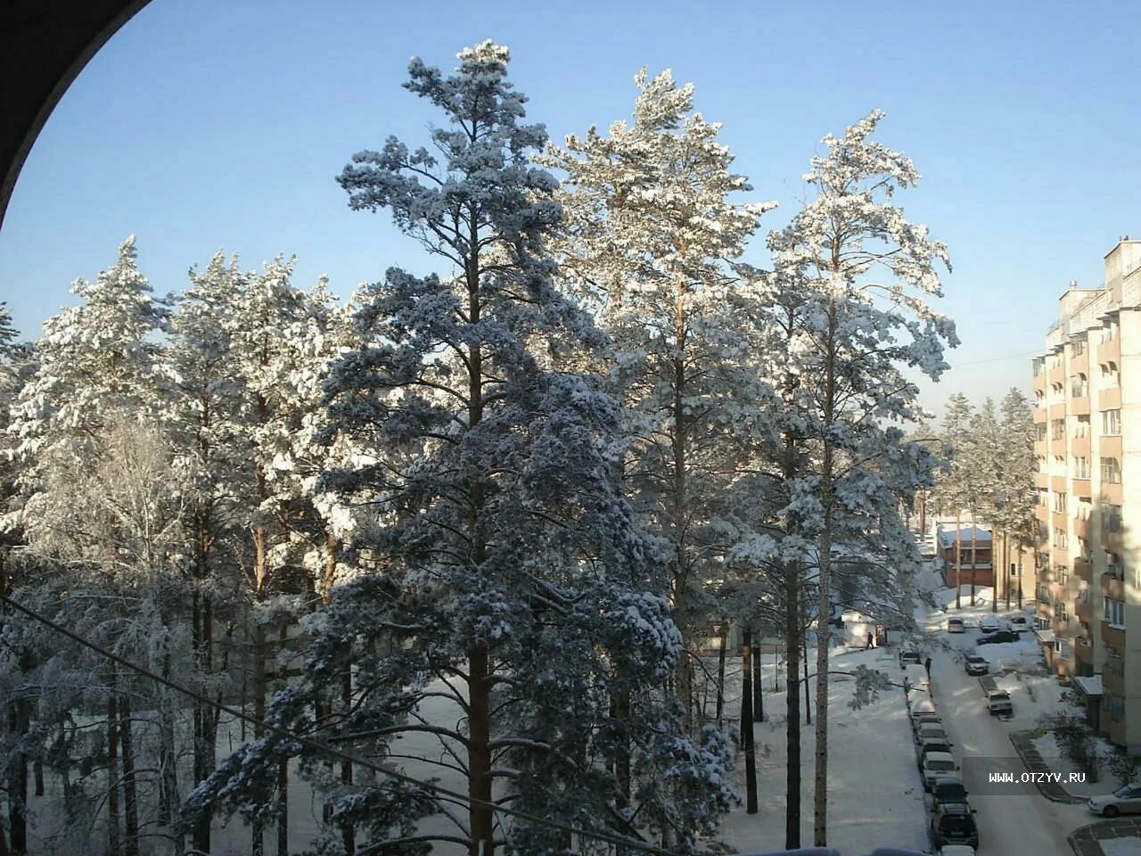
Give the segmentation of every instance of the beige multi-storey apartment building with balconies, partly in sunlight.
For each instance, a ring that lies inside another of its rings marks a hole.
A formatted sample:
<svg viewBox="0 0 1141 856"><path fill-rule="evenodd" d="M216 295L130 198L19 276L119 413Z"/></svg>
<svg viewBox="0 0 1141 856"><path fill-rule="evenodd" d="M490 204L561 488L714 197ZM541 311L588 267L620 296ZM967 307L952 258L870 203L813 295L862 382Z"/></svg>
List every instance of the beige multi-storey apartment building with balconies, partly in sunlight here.
<svg viewBox="0 0 1141 856"><path fill-rule="evenodd" d="M1033 363L1037 632L1091 724L1141 752L1141 241L1059 308Z"/></svg>

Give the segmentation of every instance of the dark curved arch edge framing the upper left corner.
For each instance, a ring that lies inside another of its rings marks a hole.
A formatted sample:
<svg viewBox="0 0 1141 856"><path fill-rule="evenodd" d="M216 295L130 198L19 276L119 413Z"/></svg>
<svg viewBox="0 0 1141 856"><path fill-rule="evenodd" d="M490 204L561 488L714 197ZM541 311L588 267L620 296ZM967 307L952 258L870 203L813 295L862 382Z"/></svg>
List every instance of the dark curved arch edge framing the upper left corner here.
<svg viewBox="0 0 1141 856"><path fill-rule="evenodd" d="M19 170L67 87L149 0L7 0L0 5L0 225Z"/></svg>

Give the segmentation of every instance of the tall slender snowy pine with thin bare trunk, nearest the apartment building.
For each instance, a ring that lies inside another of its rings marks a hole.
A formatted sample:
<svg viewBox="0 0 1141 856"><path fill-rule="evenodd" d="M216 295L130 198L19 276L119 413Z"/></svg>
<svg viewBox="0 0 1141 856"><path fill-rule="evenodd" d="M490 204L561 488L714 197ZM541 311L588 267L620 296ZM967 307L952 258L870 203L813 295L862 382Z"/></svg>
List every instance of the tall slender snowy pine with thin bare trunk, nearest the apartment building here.
<svg viewBox="0 0 1141 856"><path fill-rule="evenodd" d="M798 292L774 301L788 334L787 350L778 352L785 364L774 366L772 379L799 423L786 431L790 493L801 534L815 541L817 846L827 835L832 547L864 541L860 533L873 530L875 552L903 563L897 567L917 558L899 500L931 477L932 461L891 423L922 415L905 370L937 378L946 369L944 346L957 344L954 325L929 302L941 296L936 265L949 266L946 248L893 204L895 193L920 176L905 156L871 139L882 118L875 111L842 137L824 138L827 151L806 175L815 195L768 242L777 292ZM787 847L799 846L798 794L799 786L788 797Z"/></svg>

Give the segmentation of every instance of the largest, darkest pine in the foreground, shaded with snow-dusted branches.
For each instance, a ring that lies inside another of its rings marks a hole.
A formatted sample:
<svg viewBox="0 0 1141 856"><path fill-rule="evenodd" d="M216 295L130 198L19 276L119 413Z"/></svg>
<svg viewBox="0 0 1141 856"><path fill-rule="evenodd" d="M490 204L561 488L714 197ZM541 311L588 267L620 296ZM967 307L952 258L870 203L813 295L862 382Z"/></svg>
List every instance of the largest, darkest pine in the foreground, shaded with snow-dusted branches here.
<svg viewBox="0 0 1141 856"><path fill-rule="evenodd" d="M367 498L371 519L350 546L365 573L314 617L306 675L267 711L397 765L399 737L439 740L440 770L466 782L462 811L391 780L330 782L321 759L306 759L331 785L333 824L353 824L361 848L450 840L489 856L510 841L553 853L570 843L561 833L508 824L494 805L629 833L631 818L658 832L707 826L729 799L709 773L722 762L715 736L694 745L677 711L644 692L673 668L679 637L654 589L653 546L616 492L615 403L597 379L559 370L601 336L551 283L556 181L527 162L545 132L520 122L507 64L489 41L462 51L448 76L414 59L407 88L448 120L431 132L439 158L389 139L340 178L354 208L390 209L458 272L391 269L356 314L361 345L326 391L335 433L358 452L325 484ZM348 663L346 711L334 703ZM606 766L615 680L644 700L621 736L649 768L624 810ZM314 702L333 712L315 721ZM264 813L248 798L251 776L298 752L273 737L248 746L192 794L191 811L217 800ZM682 803L670 798L678 778L689 781ZM435 814L454 830L418 827ZM342 849L332 834L323 846Z"/></svg>

